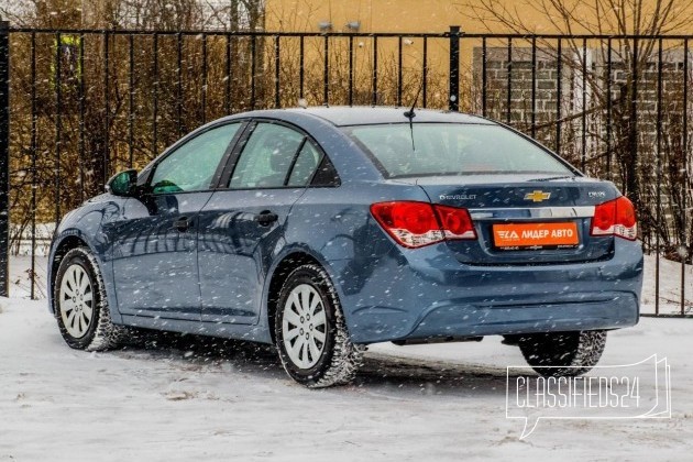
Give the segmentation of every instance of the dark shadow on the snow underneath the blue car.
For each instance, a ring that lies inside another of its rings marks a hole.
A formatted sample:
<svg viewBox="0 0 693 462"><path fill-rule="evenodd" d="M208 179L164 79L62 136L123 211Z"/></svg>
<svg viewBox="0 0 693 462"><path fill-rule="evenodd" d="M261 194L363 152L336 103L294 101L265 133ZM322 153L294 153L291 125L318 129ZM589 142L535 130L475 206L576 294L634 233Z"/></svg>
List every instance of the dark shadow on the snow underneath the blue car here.
<svg viewBox="0 0 693 462"><path fill-rule="evenodd" d="M136 330L116 352L121 358L167 360L186 371L221 369L292 384L273 345L174 332ZM510 376L513 378L514 376ZM299 386L299 385L296 385ZM506 369L396 358L366 352L354 382L333 391L403 395L505 396Z"/></svg>

